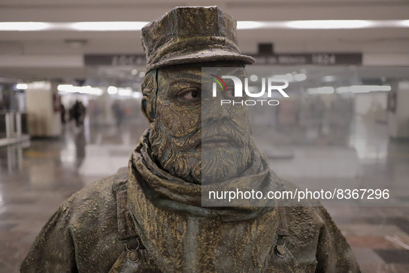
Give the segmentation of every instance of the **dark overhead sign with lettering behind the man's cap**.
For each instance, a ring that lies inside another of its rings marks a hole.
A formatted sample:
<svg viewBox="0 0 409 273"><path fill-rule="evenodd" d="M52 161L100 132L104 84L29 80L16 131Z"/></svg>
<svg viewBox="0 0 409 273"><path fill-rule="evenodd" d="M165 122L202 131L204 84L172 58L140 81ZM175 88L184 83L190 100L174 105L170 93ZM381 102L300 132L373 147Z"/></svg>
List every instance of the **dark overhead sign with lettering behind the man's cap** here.
<svg viewBox="0 0 409 273"><path fill-rule="evenodd" d="M251 55L251 54L248 54ZM257 65L358 65L362 53L291 53L275 55L251 55ZM85 54L86 66L145 66L145 54Z"/></svg>

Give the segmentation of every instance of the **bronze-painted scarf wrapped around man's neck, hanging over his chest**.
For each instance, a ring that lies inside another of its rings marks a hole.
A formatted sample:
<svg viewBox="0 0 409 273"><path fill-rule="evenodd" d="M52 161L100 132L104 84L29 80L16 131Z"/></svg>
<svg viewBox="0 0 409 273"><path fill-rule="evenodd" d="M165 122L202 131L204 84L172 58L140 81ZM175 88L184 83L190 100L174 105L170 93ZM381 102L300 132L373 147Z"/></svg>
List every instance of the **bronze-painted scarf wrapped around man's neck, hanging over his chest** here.
<svg viewBox="0 0 409 273"><path fill-rule="evenodd" d="M161 169L145 131L129 160L128 208L163 272L262 272L276 240L275 200L201 206L202 192L210 190L278 189L265 155L254 143L252 148L253 161L241 177L202 186Z"/></svg>

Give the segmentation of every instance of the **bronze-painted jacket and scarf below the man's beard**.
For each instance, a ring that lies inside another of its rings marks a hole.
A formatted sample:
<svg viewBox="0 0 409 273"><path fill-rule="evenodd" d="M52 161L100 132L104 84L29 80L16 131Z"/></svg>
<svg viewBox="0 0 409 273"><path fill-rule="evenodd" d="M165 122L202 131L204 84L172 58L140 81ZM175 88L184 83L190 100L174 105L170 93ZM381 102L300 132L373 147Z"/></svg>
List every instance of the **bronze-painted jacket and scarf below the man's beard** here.
<svg viewBox="0 0 409 273"><path fill-rule="evenodd" d="M147 139L127 172L86 186L60 206L21 272L359 272L319 203L203 208L201 186L158 168ZM261 154L245 177L264 176L264 184L295 191L266 172L265 162Z"/></svg>

